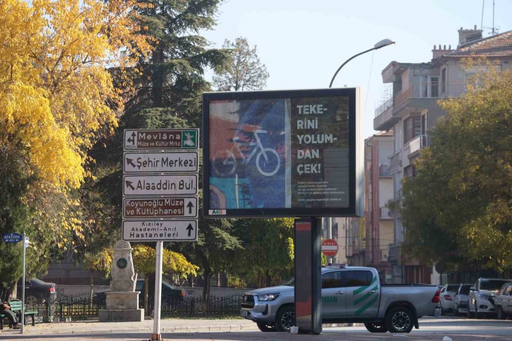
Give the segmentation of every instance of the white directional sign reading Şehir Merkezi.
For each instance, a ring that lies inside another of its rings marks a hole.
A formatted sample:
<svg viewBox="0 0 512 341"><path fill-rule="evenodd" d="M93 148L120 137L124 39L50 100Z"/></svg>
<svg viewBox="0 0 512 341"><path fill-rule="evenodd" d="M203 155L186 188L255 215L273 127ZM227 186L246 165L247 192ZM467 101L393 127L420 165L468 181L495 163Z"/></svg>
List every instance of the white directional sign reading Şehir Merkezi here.
<svg viewBox="0 0 512 341"><path fill-rule="evenodd" d="M123 172L177 173L198 172L198 152L124 152Z"/></svg>

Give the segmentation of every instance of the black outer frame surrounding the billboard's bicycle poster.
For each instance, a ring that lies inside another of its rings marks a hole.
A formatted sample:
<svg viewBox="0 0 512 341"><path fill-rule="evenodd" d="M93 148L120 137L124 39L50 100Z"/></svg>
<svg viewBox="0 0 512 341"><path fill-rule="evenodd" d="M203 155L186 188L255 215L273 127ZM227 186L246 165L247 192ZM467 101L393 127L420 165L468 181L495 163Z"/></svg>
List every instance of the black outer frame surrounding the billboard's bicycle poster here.
<svg viewBox="0 0 512 341"><path fill-rule="evenodd" d="M349 206L324 208L236 208L221 209L222 215L210 214L209 197L209 103L212 100L273 99L302 97L349 98ZM284 91L203 93L203 216L205 218L279 218L279 217L362 217L364 215L364 145L360 129L360 89L312 89Z"/></svg>

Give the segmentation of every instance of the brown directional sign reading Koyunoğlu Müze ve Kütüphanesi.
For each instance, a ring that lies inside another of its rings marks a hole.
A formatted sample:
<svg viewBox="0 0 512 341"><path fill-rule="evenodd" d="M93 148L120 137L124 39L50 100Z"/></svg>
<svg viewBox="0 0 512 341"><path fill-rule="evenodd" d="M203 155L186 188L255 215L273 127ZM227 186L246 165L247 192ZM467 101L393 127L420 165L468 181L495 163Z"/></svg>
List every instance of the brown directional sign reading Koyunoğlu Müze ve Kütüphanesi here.
<svg viewBox="0 0 512 341"><path fill-rule="evenodd" d="M124 198L123 218L195 218L197 197Z"/></svg>

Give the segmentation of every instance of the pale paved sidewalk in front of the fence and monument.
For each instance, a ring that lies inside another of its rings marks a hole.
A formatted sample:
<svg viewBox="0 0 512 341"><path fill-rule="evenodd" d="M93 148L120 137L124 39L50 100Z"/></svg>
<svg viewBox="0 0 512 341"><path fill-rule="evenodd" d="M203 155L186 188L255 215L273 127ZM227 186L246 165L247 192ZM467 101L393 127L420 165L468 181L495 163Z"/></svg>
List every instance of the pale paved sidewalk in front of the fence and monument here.
<svg viewBox="0 0 512 341"><path fill-rule="evenodd" d="M165 318L160 322L161 332L234 331L255 330L256 324L247 319L178 319ZM152 333L153 320L143 322L98 322L76 321L61 323L41 323L25 327L24 335L51 334L111 334L111 333ZM4 328L0 338L19 334L19 330ZM20 335L21 336L21 335Z"/></svg>

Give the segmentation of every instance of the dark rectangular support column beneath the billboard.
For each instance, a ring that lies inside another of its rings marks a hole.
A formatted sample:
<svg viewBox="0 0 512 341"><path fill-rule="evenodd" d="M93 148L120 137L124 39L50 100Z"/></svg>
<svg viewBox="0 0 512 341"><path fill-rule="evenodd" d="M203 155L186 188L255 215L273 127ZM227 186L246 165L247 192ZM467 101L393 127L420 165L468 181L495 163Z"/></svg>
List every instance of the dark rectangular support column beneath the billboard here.
<svg viewBox="0 0 512 341"><path fill-rule="evenodd" d="M299 333L322 333L322 218L295 219L295 326Z"/></svg>

